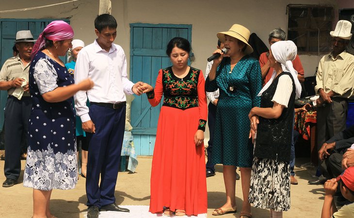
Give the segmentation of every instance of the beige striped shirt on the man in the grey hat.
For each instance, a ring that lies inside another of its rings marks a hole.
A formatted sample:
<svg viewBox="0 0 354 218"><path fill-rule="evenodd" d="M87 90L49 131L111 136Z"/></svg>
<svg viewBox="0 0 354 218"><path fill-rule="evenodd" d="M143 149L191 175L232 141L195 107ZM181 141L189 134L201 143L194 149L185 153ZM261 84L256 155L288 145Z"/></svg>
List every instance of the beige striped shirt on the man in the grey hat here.
<svg viewBox="0 0 354 218"><path fill-rule="evenodd" d="M26 81L28 81L28 73L31 65L30 63L31 62L29 62L27 65L23 65L19 55L7 59L0 70L0 81L11 81L16 78L24 78ZM7 90L7 93L12 95L15 89L16 87L12 87ZM25 92L23 93L23 96L30 96L30 93Z"/></svg>

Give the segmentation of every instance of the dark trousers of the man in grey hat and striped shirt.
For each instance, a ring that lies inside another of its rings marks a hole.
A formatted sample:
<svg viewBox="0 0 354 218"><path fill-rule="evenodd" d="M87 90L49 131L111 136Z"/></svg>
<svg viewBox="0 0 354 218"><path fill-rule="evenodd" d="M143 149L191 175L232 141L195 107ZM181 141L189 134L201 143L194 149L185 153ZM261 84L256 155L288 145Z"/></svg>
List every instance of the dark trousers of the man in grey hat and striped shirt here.
<svg viewBox="0 0 354 218"><path fill-rule="evenodd" d="M5 165L7 179L17 180L21 172L21 140L28 136L28 120L32 110L31 97L21 100L9 96L5 106Z"/></svg>

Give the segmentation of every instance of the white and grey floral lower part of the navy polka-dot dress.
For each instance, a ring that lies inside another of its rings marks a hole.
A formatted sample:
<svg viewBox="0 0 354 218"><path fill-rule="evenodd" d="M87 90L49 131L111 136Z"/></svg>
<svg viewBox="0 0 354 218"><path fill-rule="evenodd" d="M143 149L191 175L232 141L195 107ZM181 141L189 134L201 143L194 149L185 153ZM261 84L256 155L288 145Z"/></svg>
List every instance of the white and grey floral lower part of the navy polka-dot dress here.
<svg viewBox="0 0 354 218"><path fill-rule="evenodd" d="M75 146L76 148L76 146ZM75 149L76 150L76 149ZM33 187L38 190L72 189L78 180L76 151L54 154L48 144L47 150L33 151L28 148L24 187Z"/></svg>

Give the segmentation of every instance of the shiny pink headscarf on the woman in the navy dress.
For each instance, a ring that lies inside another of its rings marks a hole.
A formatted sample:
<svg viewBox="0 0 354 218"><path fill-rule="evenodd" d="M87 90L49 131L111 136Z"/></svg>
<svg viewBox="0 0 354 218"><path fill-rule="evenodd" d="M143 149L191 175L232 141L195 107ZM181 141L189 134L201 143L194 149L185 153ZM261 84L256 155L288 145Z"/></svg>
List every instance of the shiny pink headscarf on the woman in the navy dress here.
<svg viewBox="0 0 354 218"><path fill-rule="evenodd" d="M61 41L65 39L71 39L74 37L74 31L69 24L63 20L55 20L48 24L48 26L39 35L36 43L32 48L31 60L37 54L38 51L44 48L46 44L46 38L53 41Z"/></svg>

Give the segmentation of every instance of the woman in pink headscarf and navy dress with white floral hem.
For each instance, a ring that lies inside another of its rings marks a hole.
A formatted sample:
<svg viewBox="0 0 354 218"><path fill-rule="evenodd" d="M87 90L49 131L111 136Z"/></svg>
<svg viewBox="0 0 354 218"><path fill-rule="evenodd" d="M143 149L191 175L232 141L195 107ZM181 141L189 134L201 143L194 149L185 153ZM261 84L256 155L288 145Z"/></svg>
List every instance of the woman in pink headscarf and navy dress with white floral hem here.
<svg viewBox="0 0 354 218"><path fill-rule="evenodd" d="M93 87L79 84L59 59L72 47L74 32L64 21L53 21L32 49L29 75L32 111L23 186L33 188L33 218L55 218L49 211L51 191L77 183L75 115L72 96Z"/></svg>

